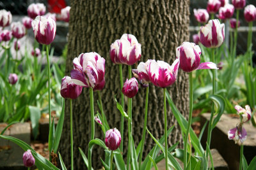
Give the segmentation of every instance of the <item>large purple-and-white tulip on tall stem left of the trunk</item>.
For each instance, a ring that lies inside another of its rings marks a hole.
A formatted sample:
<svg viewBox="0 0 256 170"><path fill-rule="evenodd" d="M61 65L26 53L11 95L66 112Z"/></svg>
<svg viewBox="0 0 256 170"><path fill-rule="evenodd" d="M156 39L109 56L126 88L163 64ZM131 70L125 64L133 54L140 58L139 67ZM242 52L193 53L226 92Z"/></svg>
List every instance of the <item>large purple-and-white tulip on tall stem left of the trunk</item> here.
<svg viewBox="0 0 256 170"><path fill-rule="evenodd" d="M56 33L56 22L52 18L38 16L32 21L32 27L38 43L43 45L52 43Z"/></svg>

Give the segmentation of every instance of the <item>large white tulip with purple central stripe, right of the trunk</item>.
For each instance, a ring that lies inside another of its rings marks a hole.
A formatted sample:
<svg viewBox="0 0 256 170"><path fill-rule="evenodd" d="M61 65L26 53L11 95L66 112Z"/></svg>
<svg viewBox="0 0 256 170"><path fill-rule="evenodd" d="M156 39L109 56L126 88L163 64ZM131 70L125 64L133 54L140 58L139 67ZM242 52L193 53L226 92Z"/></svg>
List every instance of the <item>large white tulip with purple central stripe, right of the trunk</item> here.
<svg viewBox="0 0 256 170"><path fill-rule="evenodd" d="M209 20L208 24L202 26L199 32L200 43L208 48L221 46L224 41L225 25L219 20Z"/></svg>

